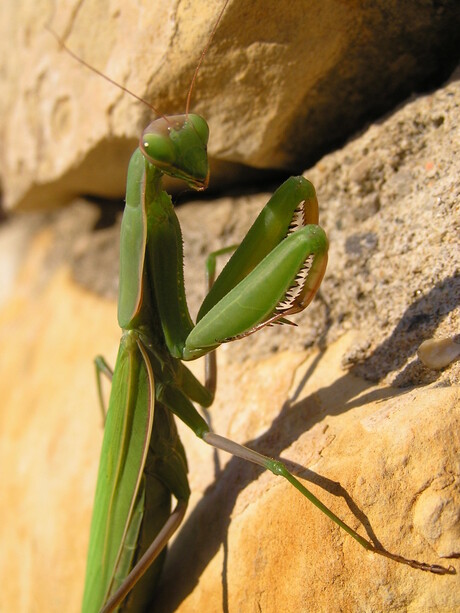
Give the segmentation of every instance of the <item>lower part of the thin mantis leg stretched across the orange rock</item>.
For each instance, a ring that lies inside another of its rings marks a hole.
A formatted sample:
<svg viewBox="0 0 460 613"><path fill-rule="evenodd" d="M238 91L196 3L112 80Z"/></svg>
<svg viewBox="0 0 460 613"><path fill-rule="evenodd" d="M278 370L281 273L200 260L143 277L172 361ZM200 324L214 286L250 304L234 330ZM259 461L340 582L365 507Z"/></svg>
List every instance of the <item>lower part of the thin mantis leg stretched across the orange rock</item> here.
<svg viewBox="0 0 460 613"><path fill-rule="evenodd" d="M244 445L239 445L230 439L227 439L223 436L215 434L214 432L207 432L203 434L203 440L211 445L212 447L216 447L217 449L222 449L228 453L231 453L234 456L242 458L243 460L247 460L248 462L253 462L254 464L258 464L263 468L271 471L274 475L279 475L284 477L291 485L293 485L296 490L298 490L305 498L307 498L310 502L312 502L320 511L322 511L325 515L329 517L334 523L336 523L340 528L345 530L351 537L353 537L364 549L367 551L372 551L375 554L384 556L386 558L390 558L395 562L399 562L400 564L407 564L412 568L417 568L419 570L429 571L438 575L444 574L455 574L455 570L452 566L448 568L444 568L443 566L439 566L437 564L426 564L425 562L417 562L416 560L409 560L402 556L390 553L384 549L379 549L375 547L370 541L363 538L360 534L358 534L353 528L350 528L345 522L343 522L335 513L333 513L326 505L324 505L310 490L308 490L292 473L288 471L286 466L280 462L279 460L273 460L268 456L264 456L257 451L253 451Z"/></svg>

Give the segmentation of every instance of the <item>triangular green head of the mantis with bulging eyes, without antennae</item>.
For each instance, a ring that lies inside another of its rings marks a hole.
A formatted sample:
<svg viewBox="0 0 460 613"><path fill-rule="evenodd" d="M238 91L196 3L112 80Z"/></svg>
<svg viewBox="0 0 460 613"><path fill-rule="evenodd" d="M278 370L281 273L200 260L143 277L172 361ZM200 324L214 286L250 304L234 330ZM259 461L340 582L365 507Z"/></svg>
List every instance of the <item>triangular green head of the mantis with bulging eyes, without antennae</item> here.
<svg viewBox="0 0 460 613"><path fill-rule="evenodd" d="M171 115L147 126L139 146L145 158L161 172L203 190L209 180L208 137L208 124L199 115Z"/></svg>

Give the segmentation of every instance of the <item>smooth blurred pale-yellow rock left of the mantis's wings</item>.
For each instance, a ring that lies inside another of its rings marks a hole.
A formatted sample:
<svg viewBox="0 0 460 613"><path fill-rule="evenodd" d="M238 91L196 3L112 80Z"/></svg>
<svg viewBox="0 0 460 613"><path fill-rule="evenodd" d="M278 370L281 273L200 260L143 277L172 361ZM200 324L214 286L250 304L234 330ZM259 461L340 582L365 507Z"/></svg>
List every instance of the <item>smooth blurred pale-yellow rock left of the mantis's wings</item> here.
<svg viewBox="0 0 460 613"><path fill-rule="evenodd" d="M2 611L79 611L102 441L92 359L113 363L113 302L61 265L46 274L52 233L27 249L0 314Z"/></svg>

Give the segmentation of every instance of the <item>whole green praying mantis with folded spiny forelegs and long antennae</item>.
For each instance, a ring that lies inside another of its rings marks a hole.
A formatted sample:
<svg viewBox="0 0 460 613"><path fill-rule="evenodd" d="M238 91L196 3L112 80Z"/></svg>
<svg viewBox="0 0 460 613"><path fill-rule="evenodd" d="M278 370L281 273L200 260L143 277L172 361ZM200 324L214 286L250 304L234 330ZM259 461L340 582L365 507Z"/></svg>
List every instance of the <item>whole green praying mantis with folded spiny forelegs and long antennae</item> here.
<svg viewBox="0 0 460 613"><path fill-rule="evenodd" d="M190 317L181 229L161 181L169 175L196 190L207 186L209 130L202 117L189 113L189 106L197 71L226 5L196 68L185 114L153 121L129 163L120 248L122 337L113 373L101 358L96 361L100 396L101 372L111 376L112 389L83 613L140 611L152 600L166 544L179 527L190 496L187 461L174 415L207 444L287 479L366 550L437 574L450 572L376 549L283 463L213 433L195 408L194 403L209 407L213 402L215 349L265 326L290 323L287 318L303 311L314 298L327 264L328 241L318 225L314 187L301 176L291 177L275 192L241 244L231 248L233 255L215 281L215 257L230 249L210 256L209 292L196 324ZM206 356L204 385L183 364L202 356ZM177 502L171 512L172 496Z"/></svg>

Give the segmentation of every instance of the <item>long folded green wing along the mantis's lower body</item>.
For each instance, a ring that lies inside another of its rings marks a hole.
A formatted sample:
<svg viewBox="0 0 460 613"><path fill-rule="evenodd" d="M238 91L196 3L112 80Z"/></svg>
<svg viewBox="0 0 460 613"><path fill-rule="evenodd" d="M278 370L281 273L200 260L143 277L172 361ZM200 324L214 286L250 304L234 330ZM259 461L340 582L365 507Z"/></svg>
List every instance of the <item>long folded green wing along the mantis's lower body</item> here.
<svg viewBox="0 0 460 613"><path fill-rule="evenodd" d="M140 340L126 333L115 365L99 464L83 598L85 613L99 611L112 591L128 529L129 538L134 542L137 539L130 523L136 505L142 504L138 493L153 413L154 380L148 356Z"/></svg>

